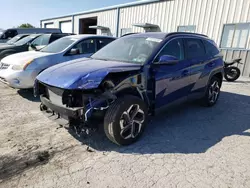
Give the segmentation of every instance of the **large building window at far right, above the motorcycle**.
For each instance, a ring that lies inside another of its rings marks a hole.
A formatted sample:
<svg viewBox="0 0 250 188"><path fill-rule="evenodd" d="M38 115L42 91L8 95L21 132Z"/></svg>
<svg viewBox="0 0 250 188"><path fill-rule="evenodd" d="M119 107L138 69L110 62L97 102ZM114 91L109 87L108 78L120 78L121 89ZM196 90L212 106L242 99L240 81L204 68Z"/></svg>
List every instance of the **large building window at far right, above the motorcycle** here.
<svg viewBox="0 0 250 188"><path fill-rule="evenodd" d="M221 38L221 48L246 48L250 23L225 24Z"/></svg>

